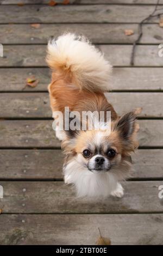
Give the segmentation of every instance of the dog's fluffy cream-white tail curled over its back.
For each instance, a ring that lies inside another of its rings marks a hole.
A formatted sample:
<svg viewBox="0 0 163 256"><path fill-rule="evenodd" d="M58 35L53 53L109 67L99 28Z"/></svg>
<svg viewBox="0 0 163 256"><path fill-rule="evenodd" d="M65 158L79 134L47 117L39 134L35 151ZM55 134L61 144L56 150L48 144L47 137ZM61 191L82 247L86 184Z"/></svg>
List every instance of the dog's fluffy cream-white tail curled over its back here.
<svg viewBox="0 0 163 256"><path fill-rule="evenodd" d="M49 40L46 60L53 70L68 73L79 89L105 92L109 88L112 66L84 37L64 34Z"/></svg>

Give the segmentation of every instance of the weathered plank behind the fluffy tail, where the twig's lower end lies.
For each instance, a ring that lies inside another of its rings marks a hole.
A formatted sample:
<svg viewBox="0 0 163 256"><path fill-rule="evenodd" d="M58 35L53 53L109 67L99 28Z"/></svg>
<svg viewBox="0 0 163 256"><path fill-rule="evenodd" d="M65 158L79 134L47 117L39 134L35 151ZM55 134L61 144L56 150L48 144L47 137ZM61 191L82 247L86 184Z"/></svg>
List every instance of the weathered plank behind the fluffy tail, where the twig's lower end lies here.
<svg viewBox="0 0 163 256"><path fill-rule="evenodd" d="M106 59L114 66L130 66L131 45L98 45ZM139 45L135 52L135 66L163 66L159 57L158 45ZM45 62L44 45L4 45L4 58L0 58L1 67L42 67Z"/></svg>

